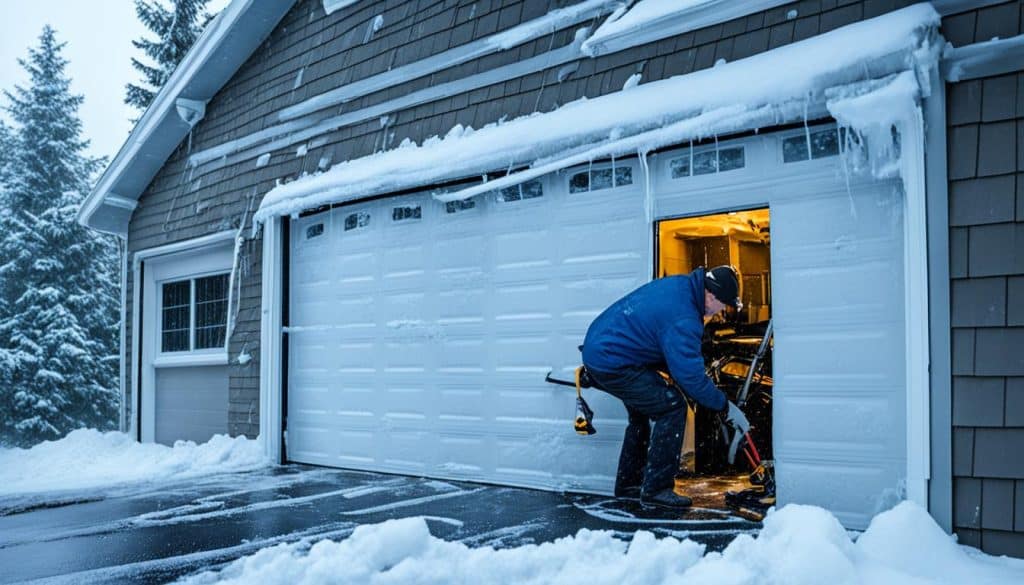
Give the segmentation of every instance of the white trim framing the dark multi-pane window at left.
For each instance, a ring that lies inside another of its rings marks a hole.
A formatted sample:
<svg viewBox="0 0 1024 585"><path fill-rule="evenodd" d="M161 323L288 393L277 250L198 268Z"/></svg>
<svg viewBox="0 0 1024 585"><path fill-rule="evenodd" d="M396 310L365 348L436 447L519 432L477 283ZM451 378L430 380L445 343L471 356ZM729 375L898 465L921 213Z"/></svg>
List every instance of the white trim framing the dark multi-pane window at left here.
<svg viewBox="0 0 1024 585"><path fill-rule="evenodd" d="M158 368L224 366L228 363L226 335L222 348L161 354L162 328L158 321L161 317L158 308L162 304L160 294L162 289L159 285L194 276L229 273L233 258L234 236L234 232L221 232L195 240L140 250L133 254L132 412L137 414L132 417L131 427L143 443L153 443L156 440ZM135 365L138 366L137 370L134 368ZM136 373L140 376L135 375Z"/></svg>

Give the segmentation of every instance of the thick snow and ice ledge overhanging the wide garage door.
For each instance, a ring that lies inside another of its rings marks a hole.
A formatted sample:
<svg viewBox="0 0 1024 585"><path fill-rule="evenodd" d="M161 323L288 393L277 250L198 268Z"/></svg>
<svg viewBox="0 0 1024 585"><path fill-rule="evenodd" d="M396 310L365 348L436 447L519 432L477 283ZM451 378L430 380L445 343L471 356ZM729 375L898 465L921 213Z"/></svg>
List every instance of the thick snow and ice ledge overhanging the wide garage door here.
<svg viewBox="0 0 1024 585"><path fill-rule="evenodd" d="M799 120L810 106L842 102L849 110L844 98L865 91L906 94L908 77L899 74L935 65L939 20L930 4L916 4L710 70L628 84L551 113L479 130L456 126L443 137L403 143L279 185L263 198L255 220L527 167L437 196L467 198L588 160ZM912 89L916 98L915 84Z"/></svg>

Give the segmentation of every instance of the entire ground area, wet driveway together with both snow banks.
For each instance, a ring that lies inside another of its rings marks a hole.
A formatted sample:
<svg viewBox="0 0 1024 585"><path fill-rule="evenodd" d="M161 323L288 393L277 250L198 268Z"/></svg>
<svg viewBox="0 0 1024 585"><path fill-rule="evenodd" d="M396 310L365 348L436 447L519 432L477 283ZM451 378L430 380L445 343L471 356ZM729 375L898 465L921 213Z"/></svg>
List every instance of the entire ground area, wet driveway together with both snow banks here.
<svg viewBox="0 0 1024 585"><path fill-rule="evenodd" d="M268 466L244 440L80 431L0 451L0 582L1024 582L1024 561L956 545L909 503L859 536L809 506L759 529L714 509Z"/></svg>

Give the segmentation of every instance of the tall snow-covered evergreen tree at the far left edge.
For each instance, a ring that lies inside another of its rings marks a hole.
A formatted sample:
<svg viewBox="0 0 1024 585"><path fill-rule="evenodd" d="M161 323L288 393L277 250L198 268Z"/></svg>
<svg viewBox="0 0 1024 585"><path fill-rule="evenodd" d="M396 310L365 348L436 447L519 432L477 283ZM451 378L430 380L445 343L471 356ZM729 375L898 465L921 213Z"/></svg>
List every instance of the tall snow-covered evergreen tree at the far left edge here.
<svg viewBox="0 0 1024 585"><path fill-rule="evenodd" d="M45 27L5 91L14 122L0 212L0 443L28 446L118 411L117 244L76 221L102 161L84 151L63 44Z"/></svg>

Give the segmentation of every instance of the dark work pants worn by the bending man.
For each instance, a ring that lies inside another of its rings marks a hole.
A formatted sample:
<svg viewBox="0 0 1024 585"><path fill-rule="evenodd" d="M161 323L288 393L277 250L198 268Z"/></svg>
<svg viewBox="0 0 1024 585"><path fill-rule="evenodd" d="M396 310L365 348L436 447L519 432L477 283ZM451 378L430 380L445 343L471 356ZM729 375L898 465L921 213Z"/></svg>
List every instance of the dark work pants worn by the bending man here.
<svg viewBox="0 0 1024 585"><path fill-rule="evenodd" d="M672 488L686 427L686 400L682 393L653 368L588 371L601 389L623 401L629 414L618 455L615 495L639 487L643 496L652 496Z"/></svg>

